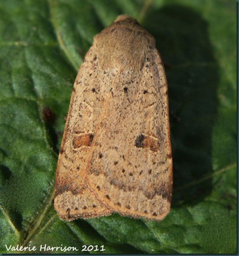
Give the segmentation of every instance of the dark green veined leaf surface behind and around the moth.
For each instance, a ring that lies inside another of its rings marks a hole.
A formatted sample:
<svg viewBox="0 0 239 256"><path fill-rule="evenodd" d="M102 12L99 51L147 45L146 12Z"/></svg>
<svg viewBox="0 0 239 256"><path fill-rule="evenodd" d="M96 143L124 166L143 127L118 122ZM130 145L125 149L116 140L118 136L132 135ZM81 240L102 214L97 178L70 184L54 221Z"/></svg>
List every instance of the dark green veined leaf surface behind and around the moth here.
<svg viewBox="0 0 239 256"><path fill-rule="evenodd" d="M63 222L53 185L72 85L93 36L123 13L166 64L172 209L162 222ZM0 252L236 252L236 1L1 0L0 44Z"/></svg>

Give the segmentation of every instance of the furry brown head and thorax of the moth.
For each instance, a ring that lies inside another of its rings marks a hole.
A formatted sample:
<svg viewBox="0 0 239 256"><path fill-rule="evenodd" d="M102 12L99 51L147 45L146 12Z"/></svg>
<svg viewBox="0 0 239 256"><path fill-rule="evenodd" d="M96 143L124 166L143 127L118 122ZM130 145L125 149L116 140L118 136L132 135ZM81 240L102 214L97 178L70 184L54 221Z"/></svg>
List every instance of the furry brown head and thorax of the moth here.
<svg viewBox="0 0 239 256"><path fill-rule="evenodd" d="M134 18L120 15L94 37L94 44L101 69L140 71L155 40Z"/></svg>

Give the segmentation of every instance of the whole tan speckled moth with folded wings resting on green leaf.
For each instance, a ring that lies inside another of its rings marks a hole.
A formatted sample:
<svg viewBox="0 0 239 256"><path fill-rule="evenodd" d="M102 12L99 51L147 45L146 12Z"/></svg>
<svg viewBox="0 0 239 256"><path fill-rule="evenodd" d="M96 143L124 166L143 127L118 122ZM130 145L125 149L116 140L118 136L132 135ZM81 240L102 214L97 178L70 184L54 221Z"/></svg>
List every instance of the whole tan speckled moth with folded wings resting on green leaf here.
<svg viewBox="0 0 239 256"><path fill-rule="evenodd" d="M120 15L76 76L56 172L60 219L162 220L172 199L167 81L154 38Z"/></svg>

